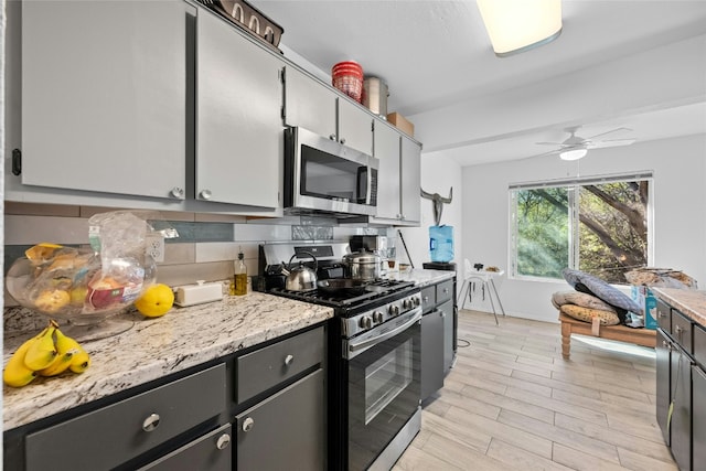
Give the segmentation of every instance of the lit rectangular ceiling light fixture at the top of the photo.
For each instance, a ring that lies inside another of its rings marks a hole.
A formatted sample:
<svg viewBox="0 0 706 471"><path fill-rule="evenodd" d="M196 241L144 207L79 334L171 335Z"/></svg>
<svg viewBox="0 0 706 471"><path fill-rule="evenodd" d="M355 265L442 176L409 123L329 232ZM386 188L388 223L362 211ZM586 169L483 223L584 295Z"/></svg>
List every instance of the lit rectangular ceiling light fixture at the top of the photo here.
<svg viewBox="0 0 706 471"><path fill-rule="evenodd" d="M561 0L477 0L499 57L517 54L561 34Z"/></svg>

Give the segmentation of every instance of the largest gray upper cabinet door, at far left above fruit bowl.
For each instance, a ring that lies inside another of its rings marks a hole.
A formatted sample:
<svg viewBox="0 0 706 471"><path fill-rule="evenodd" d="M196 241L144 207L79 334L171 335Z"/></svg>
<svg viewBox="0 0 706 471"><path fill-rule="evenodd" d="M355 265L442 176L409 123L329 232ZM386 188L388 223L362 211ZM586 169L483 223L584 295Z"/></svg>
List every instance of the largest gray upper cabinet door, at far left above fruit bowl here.
<svg viewBox="0 0 706 471"><path fill-rule="evenodd" d="M186 9L22 3L23 184L184 197Z"/></svg>

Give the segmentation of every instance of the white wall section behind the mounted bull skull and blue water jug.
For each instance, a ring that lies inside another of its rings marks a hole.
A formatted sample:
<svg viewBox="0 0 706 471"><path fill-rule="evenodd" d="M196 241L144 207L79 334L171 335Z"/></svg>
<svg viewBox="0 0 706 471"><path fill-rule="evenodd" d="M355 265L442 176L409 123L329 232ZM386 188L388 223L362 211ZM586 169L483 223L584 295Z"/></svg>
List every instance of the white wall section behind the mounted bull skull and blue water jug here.
<svg viewBox="0 0 706 471"><path fill-rule="evenodd" d="M460 257L463 245L462 207L463 207L463 184L461 167L453 160L443 156L434 157L421 154L421 188L428 193L439 193L447 197L449 190L453 188L453 199L450 204L445 204L441 212L441 224L453 226L454 258L457 265L462 264ZM411 261L416 268L421 268L421 264L430 261L429 256L429 226L435 225L434 204L431 200L419 197L421 205L421 223L419 227L403 228L402 234L409 249ZM396 233L396 232L395 232ZM402 244L397 244L397 249L402 249Z"/></svg>

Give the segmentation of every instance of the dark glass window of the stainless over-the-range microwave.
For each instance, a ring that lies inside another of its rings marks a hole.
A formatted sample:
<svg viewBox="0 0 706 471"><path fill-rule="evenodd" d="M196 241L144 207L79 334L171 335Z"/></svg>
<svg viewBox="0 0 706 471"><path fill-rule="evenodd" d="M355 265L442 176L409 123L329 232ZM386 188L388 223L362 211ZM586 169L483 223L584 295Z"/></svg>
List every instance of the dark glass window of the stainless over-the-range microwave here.
<svg viewBox="0 0 706 471"><path fill-rule="evenodd" d="M301 194L364 204L367 167L301 146Z"/></svg>

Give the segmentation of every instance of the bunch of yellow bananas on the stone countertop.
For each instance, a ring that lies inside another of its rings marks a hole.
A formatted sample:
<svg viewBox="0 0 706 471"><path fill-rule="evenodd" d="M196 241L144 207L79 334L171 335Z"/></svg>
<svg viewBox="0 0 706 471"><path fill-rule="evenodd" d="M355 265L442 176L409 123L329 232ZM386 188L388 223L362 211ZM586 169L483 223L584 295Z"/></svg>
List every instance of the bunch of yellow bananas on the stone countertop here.
<svg viewBox="0 0 706 471"><path fill-rule="evenodd" d="M12 354L2 372L2 381L8 386L22 387L38 375L56 376L66 370L83 373L89 365L88 353L51 320L46 329Z"/></svg>

